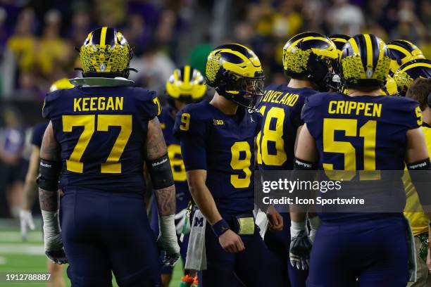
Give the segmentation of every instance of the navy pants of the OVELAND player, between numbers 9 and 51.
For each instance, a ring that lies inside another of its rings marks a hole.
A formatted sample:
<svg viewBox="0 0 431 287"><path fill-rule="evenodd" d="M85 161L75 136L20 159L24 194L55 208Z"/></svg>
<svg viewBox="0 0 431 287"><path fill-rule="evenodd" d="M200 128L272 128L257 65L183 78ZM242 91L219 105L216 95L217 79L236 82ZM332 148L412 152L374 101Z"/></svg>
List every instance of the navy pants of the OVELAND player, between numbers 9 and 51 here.
<svg viewBox="0 0 431 287"><path fill-rule="evenodd" d="M299 270L290 264L290 216L288 212L280 213L283 217L282 231L266 231L265 243L269 250L275 254L282 274L280 286L305 287L308 270Z"/></svg>

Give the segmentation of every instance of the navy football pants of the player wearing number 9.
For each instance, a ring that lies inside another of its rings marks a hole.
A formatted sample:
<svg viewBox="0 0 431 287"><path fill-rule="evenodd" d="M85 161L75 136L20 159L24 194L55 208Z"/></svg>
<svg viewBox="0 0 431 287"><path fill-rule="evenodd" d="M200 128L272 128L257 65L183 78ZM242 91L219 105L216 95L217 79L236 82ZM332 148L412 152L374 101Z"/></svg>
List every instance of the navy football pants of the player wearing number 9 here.
<svg viewBox="0 0 431 287"><path fill-rule="evenodd" d="M253 215L250 215L253 216ZM223 215L232 230L235 217ZM239 280L247 287L280 286L280 273L277 262L270 253L255 225L254 234L242 235L245 250L240 253L225 251L207 222L205 249L207 269L199 272L199 286L232 287L239 286ZM235 272L235 273L234 273Z"/></svg>

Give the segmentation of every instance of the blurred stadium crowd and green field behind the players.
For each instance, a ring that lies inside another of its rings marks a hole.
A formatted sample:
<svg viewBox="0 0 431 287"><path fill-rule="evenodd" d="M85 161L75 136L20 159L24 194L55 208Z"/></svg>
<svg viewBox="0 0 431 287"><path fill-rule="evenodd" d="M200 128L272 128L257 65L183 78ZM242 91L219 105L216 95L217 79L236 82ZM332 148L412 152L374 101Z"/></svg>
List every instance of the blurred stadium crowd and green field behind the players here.
<svg viewBox="0 0 431 287"><path fill-rule="evenodd" d="M134 46L130 66L139 72L130 78L162 100L175 66L189 63L204 72L208 52L225 42L256 52L266 84L285 80L282 46L304 31L407 39L431 56L429 0L0 0L0 272L46 270L42 222L22 242L17 219L30 129L43 121L51 83L79 75L74 47L104 25L120 28ZM179 266L171 286L179 284Z"/></svg>

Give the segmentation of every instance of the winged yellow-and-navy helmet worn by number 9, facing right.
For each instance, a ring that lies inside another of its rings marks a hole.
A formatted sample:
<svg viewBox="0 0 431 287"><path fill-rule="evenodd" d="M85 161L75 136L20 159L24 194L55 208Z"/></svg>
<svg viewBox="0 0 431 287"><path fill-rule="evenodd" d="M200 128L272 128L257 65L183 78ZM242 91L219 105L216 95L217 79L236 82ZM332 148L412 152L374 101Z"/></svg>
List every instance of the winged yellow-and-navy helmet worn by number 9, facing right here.
<svg viewBox="0 0 431 287"><path fill-rule="evenodd" d="M205 73L206 83L220 96L256 110L265 77L254 51L240 44L218 46L208 55Z"/></svg>

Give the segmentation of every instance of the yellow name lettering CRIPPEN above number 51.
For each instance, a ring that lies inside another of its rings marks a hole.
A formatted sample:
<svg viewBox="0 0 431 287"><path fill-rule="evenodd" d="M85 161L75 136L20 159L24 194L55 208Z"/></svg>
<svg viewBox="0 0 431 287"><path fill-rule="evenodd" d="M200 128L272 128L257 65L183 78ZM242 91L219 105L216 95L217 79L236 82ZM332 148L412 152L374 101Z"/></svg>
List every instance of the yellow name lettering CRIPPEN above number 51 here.
<svg viewBox="0 0 431 287"><path fill-rule="evenodd" d="M340 115L365 115L367 117L380 117L381 103L361 103L356 101L330 101L327 113Z"/></svg>

